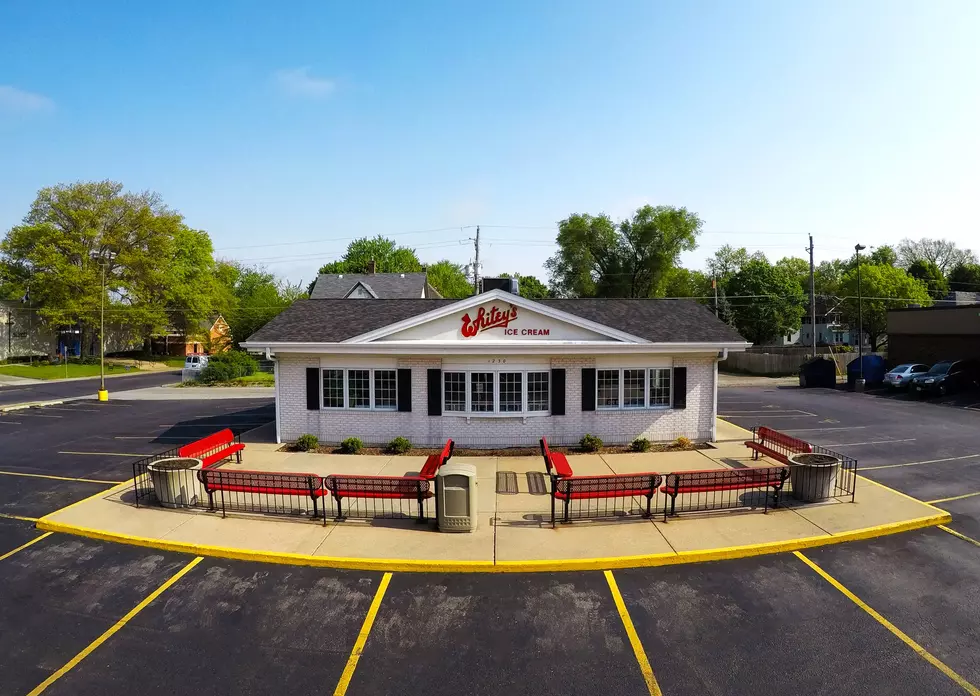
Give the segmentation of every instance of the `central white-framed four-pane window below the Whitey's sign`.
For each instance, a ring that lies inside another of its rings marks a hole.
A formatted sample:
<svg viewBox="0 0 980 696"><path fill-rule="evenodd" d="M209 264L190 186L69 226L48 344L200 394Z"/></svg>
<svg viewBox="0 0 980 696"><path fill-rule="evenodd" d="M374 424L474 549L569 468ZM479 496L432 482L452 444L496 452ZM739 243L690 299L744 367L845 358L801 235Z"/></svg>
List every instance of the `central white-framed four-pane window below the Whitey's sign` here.
<svg viewBox="0 0 980 696"><path fill-rule="evenodd" d="M443 372L443 413L547 414L550 372Z"/></svg>

